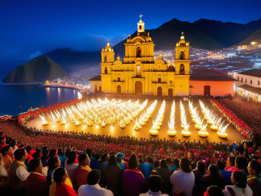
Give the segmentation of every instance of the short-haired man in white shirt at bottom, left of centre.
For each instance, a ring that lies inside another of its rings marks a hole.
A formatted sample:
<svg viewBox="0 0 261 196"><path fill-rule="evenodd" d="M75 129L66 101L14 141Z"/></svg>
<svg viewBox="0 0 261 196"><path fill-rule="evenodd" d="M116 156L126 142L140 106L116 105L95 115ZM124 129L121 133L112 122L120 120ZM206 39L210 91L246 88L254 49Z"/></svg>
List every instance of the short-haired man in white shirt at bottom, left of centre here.
<svg viewBox="0 0 261 196"><path fill-rule="evenodd" d="M82 185L78 189L78 196L113 196L110 190L100 187L100 171L93 169L87 176L88 185Z"/></svg>

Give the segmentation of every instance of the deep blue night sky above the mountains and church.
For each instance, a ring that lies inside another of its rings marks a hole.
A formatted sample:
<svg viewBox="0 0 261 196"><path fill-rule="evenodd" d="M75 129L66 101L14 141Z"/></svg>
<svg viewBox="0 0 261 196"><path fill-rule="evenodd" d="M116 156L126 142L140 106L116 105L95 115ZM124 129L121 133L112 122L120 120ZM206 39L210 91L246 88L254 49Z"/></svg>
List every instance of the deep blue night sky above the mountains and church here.
<svg viewBox="0 0 261 196"><path fill-rule="evenodd" d="M261 17L260 0L184 2L0 0L0 62L29 60L34 54L56 48L100 50L107 38L114 45L133 33L140 13L146 29L157 28L173 18L245 24Z"/></svg>

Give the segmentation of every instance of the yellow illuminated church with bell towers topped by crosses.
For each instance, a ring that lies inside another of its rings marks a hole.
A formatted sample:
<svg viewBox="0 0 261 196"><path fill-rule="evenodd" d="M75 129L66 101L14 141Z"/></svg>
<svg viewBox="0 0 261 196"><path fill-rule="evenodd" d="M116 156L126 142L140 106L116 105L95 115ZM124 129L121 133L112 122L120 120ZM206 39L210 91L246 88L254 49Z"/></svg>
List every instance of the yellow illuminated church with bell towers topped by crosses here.
<svg viewBox="0 0 261 196"><path fill-rule="evenodd" d="M149 33L145 32L145 23L141 17L142 15L137 23L137 35L129 35L124 42L123 61L119 55L115 61L115 52L109 40L106 47L102 48L101 74L88 80L91 83L91 92L99 90L104 93L158 96L188 96L193 95L194 91L201 92L202 90L194 90L195 87L190 85L189 42L185 41L183 32L175 47L175 66L168 66L161 55L154 60L155 44ZM210 94L210 87L205 93Z"/></svg>

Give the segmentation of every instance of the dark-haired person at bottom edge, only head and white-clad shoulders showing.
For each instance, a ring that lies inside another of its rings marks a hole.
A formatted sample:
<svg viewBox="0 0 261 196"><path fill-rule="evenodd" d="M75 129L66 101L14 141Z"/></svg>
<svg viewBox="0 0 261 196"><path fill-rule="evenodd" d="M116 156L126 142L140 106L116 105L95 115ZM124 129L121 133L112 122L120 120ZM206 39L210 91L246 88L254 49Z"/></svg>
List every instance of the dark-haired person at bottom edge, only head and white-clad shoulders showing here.
<svg viewBox="0 0 261 196"><path fill-rule="evenodd" d="M142 193L139 196L168 196L167 194L162 194L160 189L162 186L162 177L158 175L150 175L148 178L149 191L147 193Z"/></svg>

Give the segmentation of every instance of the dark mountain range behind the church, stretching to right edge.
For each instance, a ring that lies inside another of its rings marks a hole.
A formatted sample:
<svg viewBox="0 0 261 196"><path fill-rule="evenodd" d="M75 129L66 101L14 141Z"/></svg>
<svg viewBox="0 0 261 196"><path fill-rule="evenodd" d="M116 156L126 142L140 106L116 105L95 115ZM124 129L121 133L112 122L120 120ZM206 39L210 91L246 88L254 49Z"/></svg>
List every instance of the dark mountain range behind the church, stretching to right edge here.
<svg viewBox="0 0 261 196"><path fill-rule="evenodd" d="M185 40L189 41L192 47L213 50L228 48L237 44L259 28L261 28L261 18L247 24L207 19L200 19L190 23L172 19L156 29L145 31L150 33L150 37L155 43L155 50L174 49L182 31L184 32ZM137 31L131 37L136 35ZM123 43L125 41L126 39L113 47L116 54L119 53L120 56L124 56Z"/></svg>

